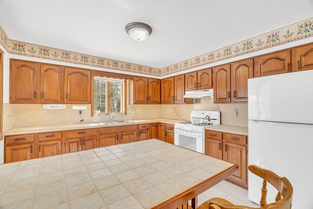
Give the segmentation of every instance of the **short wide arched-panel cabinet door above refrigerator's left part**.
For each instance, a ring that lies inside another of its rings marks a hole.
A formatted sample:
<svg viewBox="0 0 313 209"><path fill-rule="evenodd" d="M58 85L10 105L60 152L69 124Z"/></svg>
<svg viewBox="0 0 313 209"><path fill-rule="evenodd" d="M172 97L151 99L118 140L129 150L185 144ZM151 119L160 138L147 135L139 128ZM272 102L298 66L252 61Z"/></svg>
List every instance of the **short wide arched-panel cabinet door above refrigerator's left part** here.
<svg viewBox="0 0 313 209"><path fill-rule="evenodd" d="M282 50L255 58L255 77L291 72L291 49Z"/></svg>

